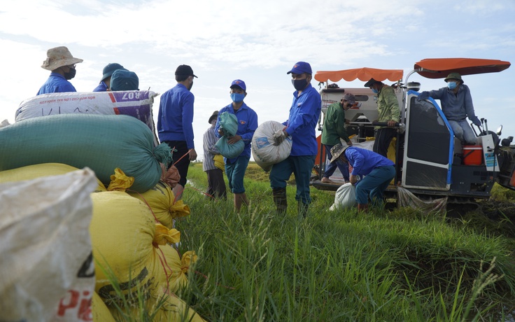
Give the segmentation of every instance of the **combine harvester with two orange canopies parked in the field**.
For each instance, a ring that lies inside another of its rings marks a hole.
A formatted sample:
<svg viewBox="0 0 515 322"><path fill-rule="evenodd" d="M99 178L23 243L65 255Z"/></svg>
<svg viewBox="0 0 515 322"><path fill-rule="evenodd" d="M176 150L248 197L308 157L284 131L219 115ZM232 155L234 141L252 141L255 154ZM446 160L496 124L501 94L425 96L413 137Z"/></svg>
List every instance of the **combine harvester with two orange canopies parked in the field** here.
<svg viewBox="0 0 515 322"><path fill-rule="evenodd" d="M452 71L462 76L492 73L509 66L509 62L495 59L423 59L407 74L404 83L403 71L398 69L318 71L315 79L325 83L325 88L320 90L323 113L327 111L327 106L339 102L344 93L354 94L356 104L346 111L346 118L351 120L348 133L356 134L358 142L374 136L374 125L370 121L378 118L376 94L365 87L335 88L328 85L328 80L359 79L366 82L374 78L383 83L385 80L395 82L393 87L399 100L401 122L398 124L395 146L390 146L388 158L395 162L397 176L386 190L386 197L395 198L400 205L403 205L400 199L404 199L406 194L423 202L444 200L444 204L475 204L476 200L491 196L495 182L515 190L513 137L501 140L502 125L492 132L488 130L488 122L482 119L485 123L477 134L477 146L461 146L437 102L431 98L422 102L416 100L420 83L410 83L409 77L418 73L425 78L445 78ZM323 122L323 113L319 125ZM320 125L319 130L321 128ZM320 145L315 167L318 177L311 181L311 185L321 190L337 190L339 184L319 180L324 164L325 151Z"/></svg>

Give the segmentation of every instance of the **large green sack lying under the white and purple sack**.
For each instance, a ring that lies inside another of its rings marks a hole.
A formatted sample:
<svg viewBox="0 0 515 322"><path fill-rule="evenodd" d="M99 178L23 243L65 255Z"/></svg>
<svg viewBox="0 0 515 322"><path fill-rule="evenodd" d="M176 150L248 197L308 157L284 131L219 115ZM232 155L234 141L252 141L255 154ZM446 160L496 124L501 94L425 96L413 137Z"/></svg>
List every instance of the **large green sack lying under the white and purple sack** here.
<svg viewBox="0 0 515 322"><path fill-rule="evenodd" d="M170 160L167 144L154 147L152 131L132 116L62 114L0 128L0 171L57 162L90 167L108 186L118 167L134 177L130 189L144 193Z"/></svg>

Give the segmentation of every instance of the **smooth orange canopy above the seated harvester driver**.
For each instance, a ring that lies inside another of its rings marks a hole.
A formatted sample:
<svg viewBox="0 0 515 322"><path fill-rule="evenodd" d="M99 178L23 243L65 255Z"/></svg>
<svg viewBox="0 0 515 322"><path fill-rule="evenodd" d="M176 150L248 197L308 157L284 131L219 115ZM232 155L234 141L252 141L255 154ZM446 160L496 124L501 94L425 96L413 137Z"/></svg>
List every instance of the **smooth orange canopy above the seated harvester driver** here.
<svg viewBox="0 0 515 322"><path fill-rule="evenodd" d="M449 73L456 71L460 75L474 73L495 73L504 71L510 66L509 62L498 59L479 58L429 58L415 63L414 69L425 78L445 78Z"/></svg>

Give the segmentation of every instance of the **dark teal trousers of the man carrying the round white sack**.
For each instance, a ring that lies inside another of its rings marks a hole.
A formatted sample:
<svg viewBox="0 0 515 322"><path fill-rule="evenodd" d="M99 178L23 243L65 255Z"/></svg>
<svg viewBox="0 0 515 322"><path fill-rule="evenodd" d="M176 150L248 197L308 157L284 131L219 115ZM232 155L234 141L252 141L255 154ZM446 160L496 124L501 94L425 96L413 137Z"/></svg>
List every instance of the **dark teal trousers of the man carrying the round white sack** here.
<svg viewBox="0 0 515 322"><path fill-rule="evenodd" d="M309 181L311 180L311 171L315 165L316 155L290 155L285 160L276 163L270 170L270 186L272 190L278 188L286 188L286 181L295 174L295 183L297 184L297 193L295 200L301 201L303 204L311 203L311 195L309 191Z"/></svg>

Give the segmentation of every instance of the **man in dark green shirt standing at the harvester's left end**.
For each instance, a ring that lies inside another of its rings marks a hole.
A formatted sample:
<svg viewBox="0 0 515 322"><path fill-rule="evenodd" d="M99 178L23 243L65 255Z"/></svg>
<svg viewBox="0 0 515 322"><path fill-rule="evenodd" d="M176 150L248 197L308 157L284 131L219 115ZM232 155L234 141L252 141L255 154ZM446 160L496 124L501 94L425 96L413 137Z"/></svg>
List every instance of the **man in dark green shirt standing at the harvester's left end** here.
<svg viewBox="0 0 515 322"><path fill-rule="evenodd" d="M338 167L341 175L344 176L345 182L348 182L348 165L346 163L339 162L328 162L331 160L331 148L339 143L340 139L343 139L348 146L352 146L352 142L348 139L347 131L345 130L345 111L351 108L355 103L355 97L351 93L346 93L344 97L341 97L340 102L336 102L327 107L325 111L324 125L322 130L322 137L320 142L325 147L325 154L327 155L325 171L322 177L322 182L332 183L330 176L334 174L334 170Z"/></svg>

